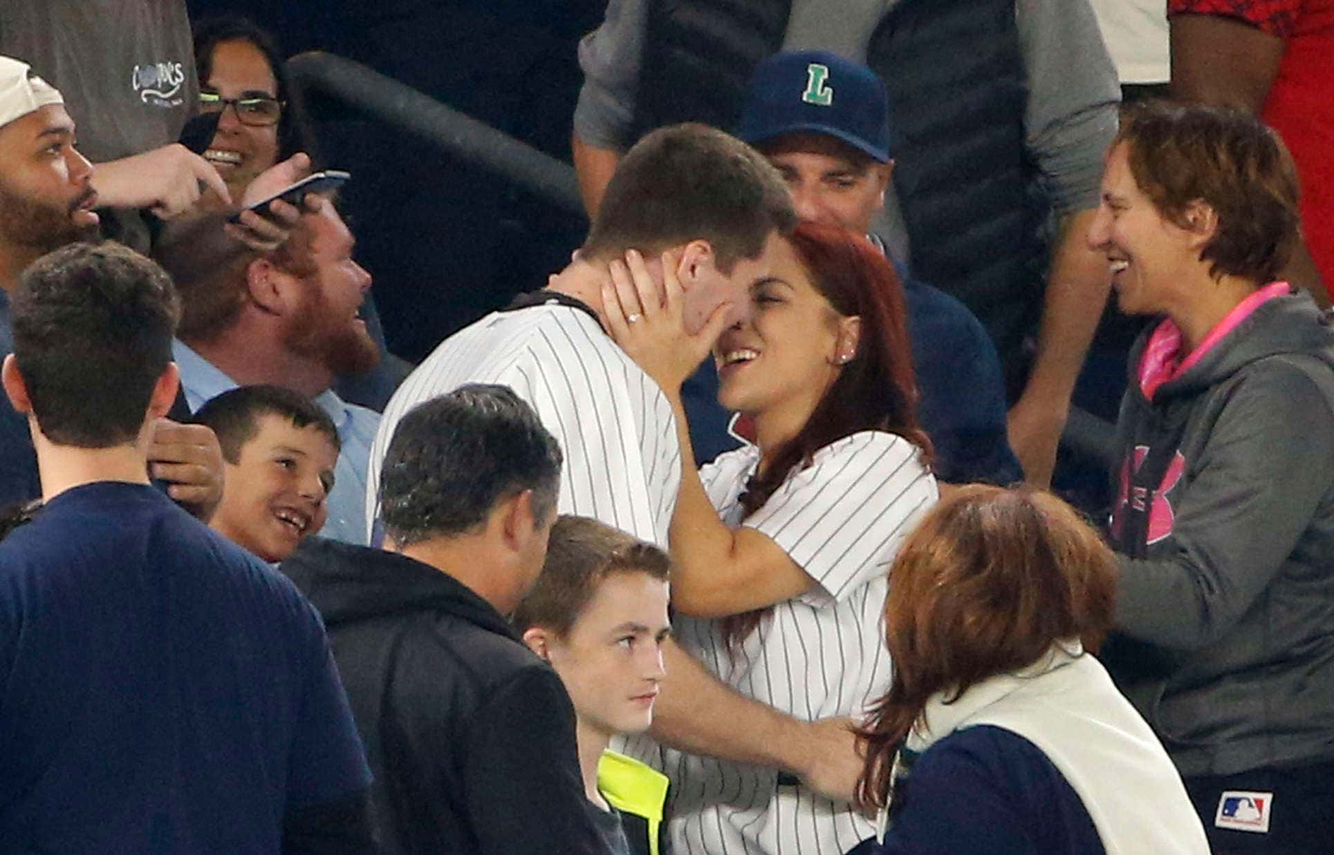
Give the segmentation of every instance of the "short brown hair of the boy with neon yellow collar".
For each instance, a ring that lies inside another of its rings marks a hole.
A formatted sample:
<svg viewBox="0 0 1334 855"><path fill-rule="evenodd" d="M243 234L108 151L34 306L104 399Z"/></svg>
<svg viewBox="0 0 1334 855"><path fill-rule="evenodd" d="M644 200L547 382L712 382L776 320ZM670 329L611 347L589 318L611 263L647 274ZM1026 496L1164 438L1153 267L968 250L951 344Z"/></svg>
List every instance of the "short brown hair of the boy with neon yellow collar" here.
<svg viewBox="0 0 1334 855"><path fill-rule="evenodd" d="M542 575L514 612L514 627L542 627L564 638L607 578L646 574L667 582L670 568L667 554L651 543L595 519L562 515L551 528Z"/></svg>

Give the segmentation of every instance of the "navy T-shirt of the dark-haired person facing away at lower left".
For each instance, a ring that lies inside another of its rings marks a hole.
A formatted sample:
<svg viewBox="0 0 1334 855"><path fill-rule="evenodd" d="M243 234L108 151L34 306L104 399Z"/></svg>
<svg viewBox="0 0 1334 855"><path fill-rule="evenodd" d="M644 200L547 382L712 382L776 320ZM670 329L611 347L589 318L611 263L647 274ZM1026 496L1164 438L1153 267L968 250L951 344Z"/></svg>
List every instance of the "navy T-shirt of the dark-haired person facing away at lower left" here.
<svg viewBox="0 0 1334 855"><path fill-rule="evenodd" d="M370 786L315 610L145 484L0 543L0 851L279 852Z"/></svg>

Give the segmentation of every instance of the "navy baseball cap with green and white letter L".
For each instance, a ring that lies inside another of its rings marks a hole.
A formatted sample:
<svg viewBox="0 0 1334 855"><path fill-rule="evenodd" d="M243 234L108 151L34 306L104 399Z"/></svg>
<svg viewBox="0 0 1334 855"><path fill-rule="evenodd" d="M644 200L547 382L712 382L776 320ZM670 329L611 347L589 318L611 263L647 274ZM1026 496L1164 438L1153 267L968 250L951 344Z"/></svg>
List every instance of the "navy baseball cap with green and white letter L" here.
<svg viewBox="0 0 1334 855"><path fill-rule="evenodd" d="M736 136L755 144L795 131L828 133L887 163L884 84L866 65L827 51L775 53L751 75Z"/></svg>

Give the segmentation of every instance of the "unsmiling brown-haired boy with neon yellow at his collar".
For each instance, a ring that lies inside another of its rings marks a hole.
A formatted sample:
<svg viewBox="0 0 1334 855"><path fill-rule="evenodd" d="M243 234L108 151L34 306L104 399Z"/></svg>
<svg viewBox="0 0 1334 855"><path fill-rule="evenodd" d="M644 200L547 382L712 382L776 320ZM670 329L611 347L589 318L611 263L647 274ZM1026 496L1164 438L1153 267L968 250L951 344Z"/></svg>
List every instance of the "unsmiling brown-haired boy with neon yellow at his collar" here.
<svg viewBox="0 0 1334 855"><path fill-rule="evenodd" d="M652 724L671 628L668 570L658 547L594 519L562 516L538 584L514 614L524 643L570 692L590 814L618 855L662 851L667 776L607 744Z"/></svg>

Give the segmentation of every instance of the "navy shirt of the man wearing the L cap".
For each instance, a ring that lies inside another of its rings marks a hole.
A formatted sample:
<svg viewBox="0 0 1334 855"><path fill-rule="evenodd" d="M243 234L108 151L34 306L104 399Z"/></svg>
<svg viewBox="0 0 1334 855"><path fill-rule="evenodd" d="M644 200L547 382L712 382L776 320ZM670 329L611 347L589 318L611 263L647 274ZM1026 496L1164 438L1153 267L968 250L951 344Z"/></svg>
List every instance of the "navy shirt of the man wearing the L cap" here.
<svg viewBox="0 0 1334 855"><path fill-rule="evenodd" d="M963 303L906 276L902 268L898 272L920 393L918 423L935 446L935 476L954 484L1022 480L1023 470L1006 438L1000 360L986 328ZM740 446L727 431L731 413L718 403L712 359L682 385L682 401L700 464Z"/></svg>

